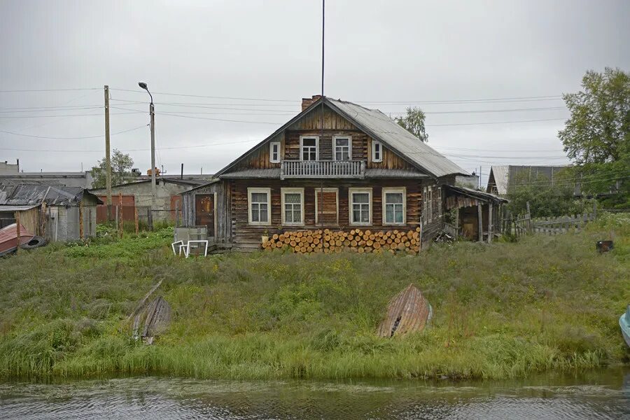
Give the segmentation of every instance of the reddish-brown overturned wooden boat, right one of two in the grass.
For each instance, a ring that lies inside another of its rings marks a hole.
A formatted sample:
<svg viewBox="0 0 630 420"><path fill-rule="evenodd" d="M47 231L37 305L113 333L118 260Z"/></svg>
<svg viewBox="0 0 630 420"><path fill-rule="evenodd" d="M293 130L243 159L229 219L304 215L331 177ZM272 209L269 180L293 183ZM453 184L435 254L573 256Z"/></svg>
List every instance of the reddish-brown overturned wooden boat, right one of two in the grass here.
<svg viewBox="0 0 630 420"><path fill-rule="evenodd" d="M421 331L433 316L433 309L420 290L409 284L387 307L387 316L379 325L380 337L393 337Z"/></svg>

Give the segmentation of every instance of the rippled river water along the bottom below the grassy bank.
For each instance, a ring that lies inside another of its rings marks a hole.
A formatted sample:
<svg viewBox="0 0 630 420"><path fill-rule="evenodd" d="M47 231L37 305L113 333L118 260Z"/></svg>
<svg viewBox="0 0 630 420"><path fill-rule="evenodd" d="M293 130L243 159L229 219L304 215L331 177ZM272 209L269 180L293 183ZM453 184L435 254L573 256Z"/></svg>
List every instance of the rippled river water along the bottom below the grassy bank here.
<svg viewBox="0 0 630 420"><path fill-rule="evenodd" d="M520 381L0 383L0 419L630 419L630 370Z"/></svg>

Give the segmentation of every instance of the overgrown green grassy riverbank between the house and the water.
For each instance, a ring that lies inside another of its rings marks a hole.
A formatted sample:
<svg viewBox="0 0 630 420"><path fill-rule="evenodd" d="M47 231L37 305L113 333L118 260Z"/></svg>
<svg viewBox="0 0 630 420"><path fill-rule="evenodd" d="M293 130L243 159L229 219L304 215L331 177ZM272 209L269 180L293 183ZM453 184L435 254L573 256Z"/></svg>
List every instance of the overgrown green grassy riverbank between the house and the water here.
<svg viewBox="0 0 630 420"><path fill-rule="evenodd" d="M254 253L176 258L170 232L0 259L0 377L520 377L627 362L630 220L518 243L433 246L417 257ZM597 239L615 239L598 255ZM175 320L155 345L119 332L158 280ZM414 283L421 334L374 334Z"/></svg>

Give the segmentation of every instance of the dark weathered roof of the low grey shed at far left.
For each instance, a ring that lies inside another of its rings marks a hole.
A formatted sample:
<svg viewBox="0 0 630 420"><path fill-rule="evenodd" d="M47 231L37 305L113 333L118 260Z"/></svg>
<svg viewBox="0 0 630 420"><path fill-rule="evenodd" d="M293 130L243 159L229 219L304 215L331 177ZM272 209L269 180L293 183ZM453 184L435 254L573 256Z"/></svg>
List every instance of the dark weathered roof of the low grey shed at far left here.
<svg viewBox="0 0 630 420"><path fill-rule="evenodd" d="M0 186L0 205L29 206L41 204L48 206L70 207L78 204L84 196L93 197L102 204L95 195L80 187L59 187L41 185Z"/></svg>

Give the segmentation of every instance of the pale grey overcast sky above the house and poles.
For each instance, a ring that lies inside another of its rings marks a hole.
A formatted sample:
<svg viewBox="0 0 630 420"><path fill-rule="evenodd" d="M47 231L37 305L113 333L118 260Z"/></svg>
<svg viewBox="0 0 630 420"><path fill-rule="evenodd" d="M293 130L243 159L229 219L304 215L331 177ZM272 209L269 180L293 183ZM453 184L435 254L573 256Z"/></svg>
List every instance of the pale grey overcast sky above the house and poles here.
<svg viewBox="0 0 630 420"><path fill-rule="evenodd" d="M429 145L468 171L559 165L559 95L588 69L630 69L629 18L627 0L328 0L325 94L391 116L420 106ZM321 0L0 0L0 51L0 160L27 172L94 165L109 85L112 148L145 172L144 80L158 165L208 174L319 92ZM83 90L6 92L57 89ZM461 102L507 98L518 100Z"/></svg>

